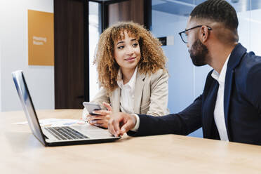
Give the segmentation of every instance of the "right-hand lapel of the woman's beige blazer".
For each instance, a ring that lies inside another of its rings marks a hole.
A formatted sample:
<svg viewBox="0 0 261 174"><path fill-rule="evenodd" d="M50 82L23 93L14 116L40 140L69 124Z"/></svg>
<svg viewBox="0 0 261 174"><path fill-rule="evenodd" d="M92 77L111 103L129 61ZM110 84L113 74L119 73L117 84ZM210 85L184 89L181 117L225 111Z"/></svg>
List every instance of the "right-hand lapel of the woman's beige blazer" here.
<svg viewBox="0 0 261 174"><path fill-rule="evenodd" d="M134 108L133 108L135 114L140 114L140 102L142 98L142 91L143 91L145 77L146 77L145 74L140 74L140 72L137 72L135 91L134 91Z"/></svg>

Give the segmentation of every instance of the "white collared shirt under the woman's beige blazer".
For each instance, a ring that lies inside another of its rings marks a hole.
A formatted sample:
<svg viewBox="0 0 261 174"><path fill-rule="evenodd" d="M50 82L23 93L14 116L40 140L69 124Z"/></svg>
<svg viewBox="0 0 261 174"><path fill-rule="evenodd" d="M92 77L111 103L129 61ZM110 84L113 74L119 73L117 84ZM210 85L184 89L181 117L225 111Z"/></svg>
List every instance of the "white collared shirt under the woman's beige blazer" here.
<svg viewBox="0 0 261 174"><path fill-rule="evenodd" d="M131 76L130 81L123 85L121 69L118 72L118 86L121 89L120 95L120 108L121 112L126 112L128 114L134 113L134 93L135 93L135 83L137 77L138 67L135 68L133 76Z"/></svg>

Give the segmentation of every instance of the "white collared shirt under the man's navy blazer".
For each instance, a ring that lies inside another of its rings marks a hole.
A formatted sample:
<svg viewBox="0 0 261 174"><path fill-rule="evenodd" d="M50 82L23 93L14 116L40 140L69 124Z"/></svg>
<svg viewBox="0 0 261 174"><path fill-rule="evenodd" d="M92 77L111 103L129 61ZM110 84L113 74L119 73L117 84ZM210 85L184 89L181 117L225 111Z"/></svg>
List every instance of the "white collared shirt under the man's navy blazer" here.
<svg viewBox="0 0 261 174"><path fill-rule="evenodd" d="M225 79L226 79L227 62L229 60L229 56L227 57L227 60L223 65L220 74L218 74L218 72L216 72L215 69L211 74L211 76L215 80L217 80L217 82L220 84L217 91L217 100L215 102L214 120L215 120L215 125L217 126L217 131L220 134L220 140L223 141L229 141L227 136L227 128L226 128L225 114L224 114Z"/></svg>

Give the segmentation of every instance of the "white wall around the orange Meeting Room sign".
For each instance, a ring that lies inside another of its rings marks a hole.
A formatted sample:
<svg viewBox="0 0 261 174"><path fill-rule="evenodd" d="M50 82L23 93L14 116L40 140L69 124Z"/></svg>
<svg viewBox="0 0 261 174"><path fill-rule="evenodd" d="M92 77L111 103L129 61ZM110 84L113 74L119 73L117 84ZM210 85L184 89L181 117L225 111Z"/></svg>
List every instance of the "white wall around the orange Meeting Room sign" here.
<svg viewBox="0 0 261 174"><path fill-rule="evenodd" d="M0 1L0 109L22 109L11 72L22 69L34 107L54 108L54 67L28 65L27 10L53 13L53 0Z"/></svg>

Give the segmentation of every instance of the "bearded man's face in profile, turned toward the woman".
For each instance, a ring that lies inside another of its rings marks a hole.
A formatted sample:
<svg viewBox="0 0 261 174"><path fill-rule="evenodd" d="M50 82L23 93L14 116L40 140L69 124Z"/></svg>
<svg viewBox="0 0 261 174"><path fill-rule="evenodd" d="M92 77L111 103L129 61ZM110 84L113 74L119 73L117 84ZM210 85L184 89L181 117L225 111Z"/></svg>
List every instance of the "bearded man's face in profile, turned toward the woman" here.
<svg viewBox="0 0 261 174"><path fill-rule="evenodd" d="M196 23L194 20L189 20L187 22L187 29L195 27L196 25L201 25ZM199 30L200 28L192 29L187 32L187 48L189 48L190 58L195 66L206 65L206 60L208 57L208 48L202 44L199 40Z"/></svg>

